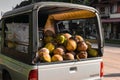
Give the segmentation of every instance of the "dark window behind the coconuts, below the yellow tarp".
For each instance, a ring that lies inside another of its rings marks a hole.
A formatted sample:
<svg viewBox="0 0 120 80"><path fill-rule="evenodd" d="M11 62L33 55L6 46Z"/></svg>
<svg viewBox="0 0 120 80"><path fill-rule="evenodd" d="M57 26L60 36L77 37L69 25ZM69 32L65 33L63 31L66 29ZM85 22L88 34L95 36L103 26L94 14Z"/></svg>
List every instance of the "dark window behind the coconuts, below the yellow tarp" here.
<svg viewBox="0 0 120 80"><path fill-rule="evenodd" d="M98 24L96 17L77 20L56 21L57 33L80 35L84 41L92 43L92 48L98 48Z"/></svg>

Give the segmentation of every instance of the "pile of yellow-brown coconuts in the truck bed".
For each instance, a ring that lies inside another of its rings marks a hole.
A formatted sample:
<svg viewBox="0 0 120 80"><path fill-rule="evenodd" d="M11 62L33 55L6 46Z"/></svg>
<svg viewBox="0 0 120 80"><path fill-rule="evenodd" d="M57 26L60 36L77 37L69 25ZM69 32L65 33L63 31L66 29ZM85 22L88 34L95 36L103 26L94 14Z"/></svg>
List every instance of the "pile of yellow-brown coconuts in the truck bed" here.
<svg viewBox="0 0 120 80"><path fill-rule="evenodd" d="M88 58L88 55L96 57L95 49L91 48L91 43L85 41L80 35L69 33L54 34L51 31L44 33L44 45L36 53L36 62L56 62L64 60L80 60Z"/></svg>

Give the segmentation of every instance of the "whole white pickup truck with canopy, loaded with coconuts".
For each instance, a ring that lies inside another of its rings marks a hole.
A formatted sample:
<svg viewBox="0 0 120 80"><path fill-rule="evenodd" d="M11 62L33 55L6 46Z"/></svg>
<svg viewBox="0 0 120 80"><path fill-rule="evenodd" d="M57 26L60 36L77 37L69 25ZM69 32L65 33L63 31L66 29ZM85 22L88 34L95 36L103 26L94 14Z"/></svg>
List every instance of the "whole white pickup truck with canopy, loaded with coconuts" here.
<svg viewBox="0 0 120 80"><path fill-rule="evenodd" d="M102 80L99 12L88 6L38 2L1 19L2 80Z"/></svg>

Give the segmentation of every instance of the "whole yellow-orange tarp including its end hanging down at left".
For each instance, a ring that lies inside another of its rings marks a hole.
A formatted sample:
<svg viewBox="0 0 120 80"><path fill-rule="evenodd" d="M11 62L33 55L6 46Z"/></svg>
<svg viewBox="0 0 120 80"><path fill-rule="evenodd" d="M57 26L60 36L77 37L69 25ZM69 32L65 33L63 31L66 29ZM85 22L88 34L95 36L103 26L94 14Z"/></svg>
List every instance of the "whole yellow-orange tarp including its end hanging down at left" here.
<svg viewBox="0 0 120 80"><path fill-rule="evenodd" d="M71 20L71 19L80 19L80 18L91 18L91 17L95 17L95 13L88 10L51 14L47 19L45 25L45 31L51 30L55 32L53 27L54 20Z"/></svg>

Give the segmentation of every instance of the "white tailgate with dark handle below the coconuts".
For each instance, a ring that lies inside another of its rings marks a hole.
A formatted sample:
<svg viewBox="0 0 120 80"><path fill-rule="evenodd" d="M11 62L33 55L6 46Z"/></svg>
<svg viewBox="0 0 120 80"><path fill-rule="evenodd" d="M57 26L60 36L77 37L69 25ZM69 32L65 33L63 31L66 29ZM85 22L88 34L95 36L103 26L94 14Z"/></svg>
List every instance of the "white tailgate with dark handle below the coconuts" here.
<svg viewBox="0 0 120 80"><path fill-rule="evenodd" d="M99 79L101 59L38 66L38 80Z"/></svg>

